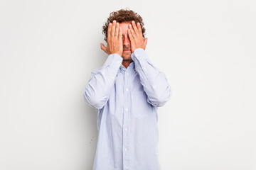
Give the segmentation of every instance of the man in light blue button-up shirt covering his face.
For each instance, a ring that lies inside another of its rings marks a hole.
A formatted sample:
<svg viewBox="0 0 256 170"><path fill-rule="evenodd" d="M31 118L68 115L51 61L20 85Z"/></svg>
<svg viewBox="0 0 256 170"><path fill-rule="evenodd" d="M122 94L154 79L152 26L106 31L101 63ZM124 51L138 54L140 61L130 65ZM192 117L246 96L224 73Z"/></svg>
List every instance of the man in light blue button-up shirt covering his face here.
<svg viewBox="0 0 256 170"><path fill-rule="evenodd" d="M110 13L103 27L108 54L92 72L85 101L97 109L94 170L159 170L157 108L171 97L163 72L147 57L142 18ZM163 60L163 59L161 59Z"/></svg>

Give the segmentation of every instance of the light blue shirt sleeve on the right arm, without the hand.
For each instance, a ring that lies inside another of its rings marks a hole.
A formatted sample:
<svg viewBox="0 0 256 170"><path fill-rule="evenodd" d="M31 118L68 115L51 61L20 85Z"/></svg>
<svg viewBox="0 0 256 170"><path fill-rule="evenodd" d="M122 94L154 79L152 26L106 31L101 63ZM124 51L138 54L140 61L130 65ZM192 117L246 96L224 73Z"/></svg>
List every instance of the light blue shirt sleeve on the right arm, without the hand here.
<svg viewBox="0 0 256 170"><path fill-rule="evenodd" d="M171 86L164 72L161 72L152 64L145 50L142 48L134 50L131 57L144 91L148 96L148 103L156 107L164 106L166 101L169 101L171 97Z"/></svg>

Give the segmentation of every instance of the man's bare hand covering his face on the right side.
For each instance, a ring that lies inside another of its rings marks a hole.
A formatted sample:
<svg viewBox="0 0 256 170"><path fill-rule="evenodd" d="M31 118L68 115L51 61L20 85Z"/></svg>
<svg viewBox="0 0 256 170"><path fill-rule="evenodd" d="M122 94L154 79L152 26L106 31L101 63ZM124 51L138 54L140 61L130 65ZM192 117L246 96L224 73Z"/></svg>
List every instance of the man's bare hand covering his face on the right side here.
<svg viewBox="0 0 256 170"><path fill-rule="evenodd" d="M129 24L128 30L129 39L131 40L132 52L137 48L142 48L146 50L146 43L148 38L143 38L142 26L140 23L135 24L135 21L132 21L132 25Z"/></svg>

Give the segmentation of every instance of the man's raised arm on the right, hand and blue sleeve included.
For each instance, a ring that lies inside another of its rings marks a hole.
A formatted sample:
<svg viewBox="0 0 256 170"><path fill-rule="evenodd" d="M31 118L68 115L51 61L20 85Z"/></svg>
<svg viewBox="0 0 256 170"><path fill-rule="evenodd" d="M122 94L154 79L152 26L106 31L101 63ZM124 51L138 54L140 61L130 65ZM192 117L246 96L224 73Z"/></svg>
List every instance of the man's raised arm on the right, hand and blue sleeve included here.
<svg viewBox="0 0 256 170"><path fill-rule="evenodd" d="M134 60L135 69L139 73L139 79L143 89L148 96L147 101L151 105L160 107L171 97L171 87L166 76L151 63L146 55L147 38L142 34L142 26L138 22L132 21L128 29L129 39L132 47L132 60Z"/></svg>

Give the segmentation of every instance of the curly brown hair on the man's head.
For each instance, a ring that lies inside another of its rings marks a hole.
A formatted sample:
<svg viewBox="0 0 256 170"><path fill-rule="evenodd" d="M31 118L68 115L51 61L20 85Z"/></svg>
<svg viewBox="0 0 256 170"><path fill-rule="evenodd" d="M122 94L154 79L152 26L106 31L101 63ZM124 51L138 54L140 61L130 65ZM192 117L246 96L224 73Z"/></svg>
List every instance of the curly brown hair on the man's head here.
<svg viewBox="0 0 256 170"><path fill-rule="evenodd" d="M142 26L142 35L145 38L145 28L144 28L144 23L142 21L142 17L139 16L138 13L129 10L129 8L126 9L120 9L119 11L114 11L110 13L109 18L107 18L107 22L105 23L105 26L102 27L102 34L105 34L104 40L107 42L107 28L110 23L113 21L117 21L118 23L123 23L123 22L130 22L130 21L135 21L135 23L140 23Z"/></svg>

